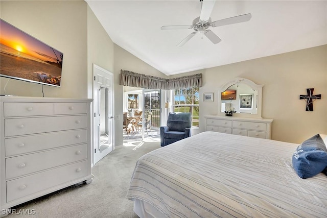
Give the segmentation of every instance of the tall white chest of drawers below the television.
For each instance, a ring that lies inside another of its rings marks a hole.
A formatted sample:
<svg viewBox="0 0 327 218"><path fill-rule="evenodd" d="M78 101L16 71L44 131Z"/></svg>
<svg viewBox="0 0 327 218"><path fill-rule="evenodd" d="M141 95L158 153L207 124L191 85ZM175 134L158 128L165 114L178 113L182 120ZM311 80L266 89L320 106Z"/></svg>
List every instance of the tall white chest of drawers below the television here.
<svg viewBox="0 0 327 218"><path fill-rule="evenodd" d="M1 210L92 181L92 100L16 96L0 100Z"/></svg>

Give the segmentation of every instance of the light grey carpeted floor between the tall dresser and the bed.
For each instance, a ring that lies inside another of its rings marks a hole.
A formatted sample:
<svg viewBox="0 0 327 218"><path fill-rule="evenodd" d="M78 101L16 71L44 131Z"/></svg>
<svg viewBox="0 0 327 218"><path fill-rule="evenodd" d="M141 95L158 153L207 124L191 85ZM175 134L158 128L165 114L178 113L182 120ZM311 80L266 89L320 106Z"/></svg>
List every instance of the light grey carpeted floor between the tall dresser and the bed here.
<svg viewBox="0 0 327 218"><path fill-rule="evenodd" d="M114 217L136 218L133 202L126 199L130 178L137 159L160 148L158 136L124 141L94 167L94 181L88 185L69 186L49 195L13 207L14 217ZM21 212L35 211L33 215Z"/></svg>

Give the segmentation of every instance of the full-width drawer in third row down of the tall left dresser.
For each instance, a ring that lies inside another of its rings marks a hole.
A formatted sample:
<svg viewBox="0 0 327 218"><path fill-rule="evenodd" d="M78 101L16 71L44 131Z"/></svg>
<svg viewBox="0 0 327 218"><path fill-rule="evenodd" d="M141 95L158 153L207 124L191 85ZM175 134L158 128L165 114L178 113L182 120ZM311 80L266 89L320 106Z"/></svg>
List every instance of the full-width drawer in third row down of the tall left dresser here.
<svg viewBox="0 0 327 218"><path fill-rule="evenodd" d="M87 142L87 130L69 130L31 136L6 138L6 156L25 154Z"/></svg>

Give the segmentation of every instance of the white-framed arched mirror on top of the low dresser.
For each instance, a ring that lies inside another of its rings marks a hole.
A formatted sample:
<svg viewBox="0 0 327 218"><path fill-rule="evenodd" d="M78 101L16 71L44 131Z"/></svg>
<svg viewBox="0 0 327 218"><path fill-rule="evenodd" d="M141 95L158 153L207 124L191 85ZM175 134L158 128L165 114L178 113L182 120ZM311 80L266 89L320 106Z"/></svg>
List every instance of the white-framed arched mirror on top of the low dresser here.
<svg viewBox="0 0 327 218"><path fill-rule="evenodd" d="M262 118L263 86L241 77L228 81L218 90L218 115L236 111L233 116Z"/></svg>

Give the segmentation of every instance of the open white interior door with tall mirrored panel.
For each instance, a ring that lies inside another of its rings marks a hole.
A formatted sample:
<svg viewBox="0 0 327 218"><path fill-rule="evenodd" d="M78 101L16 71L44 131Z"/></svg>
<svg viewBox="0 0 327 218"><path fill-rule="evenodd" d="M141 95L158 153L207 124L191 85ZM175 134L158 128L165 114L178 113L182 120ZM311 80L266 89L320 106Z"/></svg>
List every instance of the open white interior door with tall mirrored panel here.
<svg viewBox="0 0 327 218"><path fill-rule="evenodd" d="M93 164L109 154L114 148L113 133L113 74L94 64L93 67Z"/></svg>

